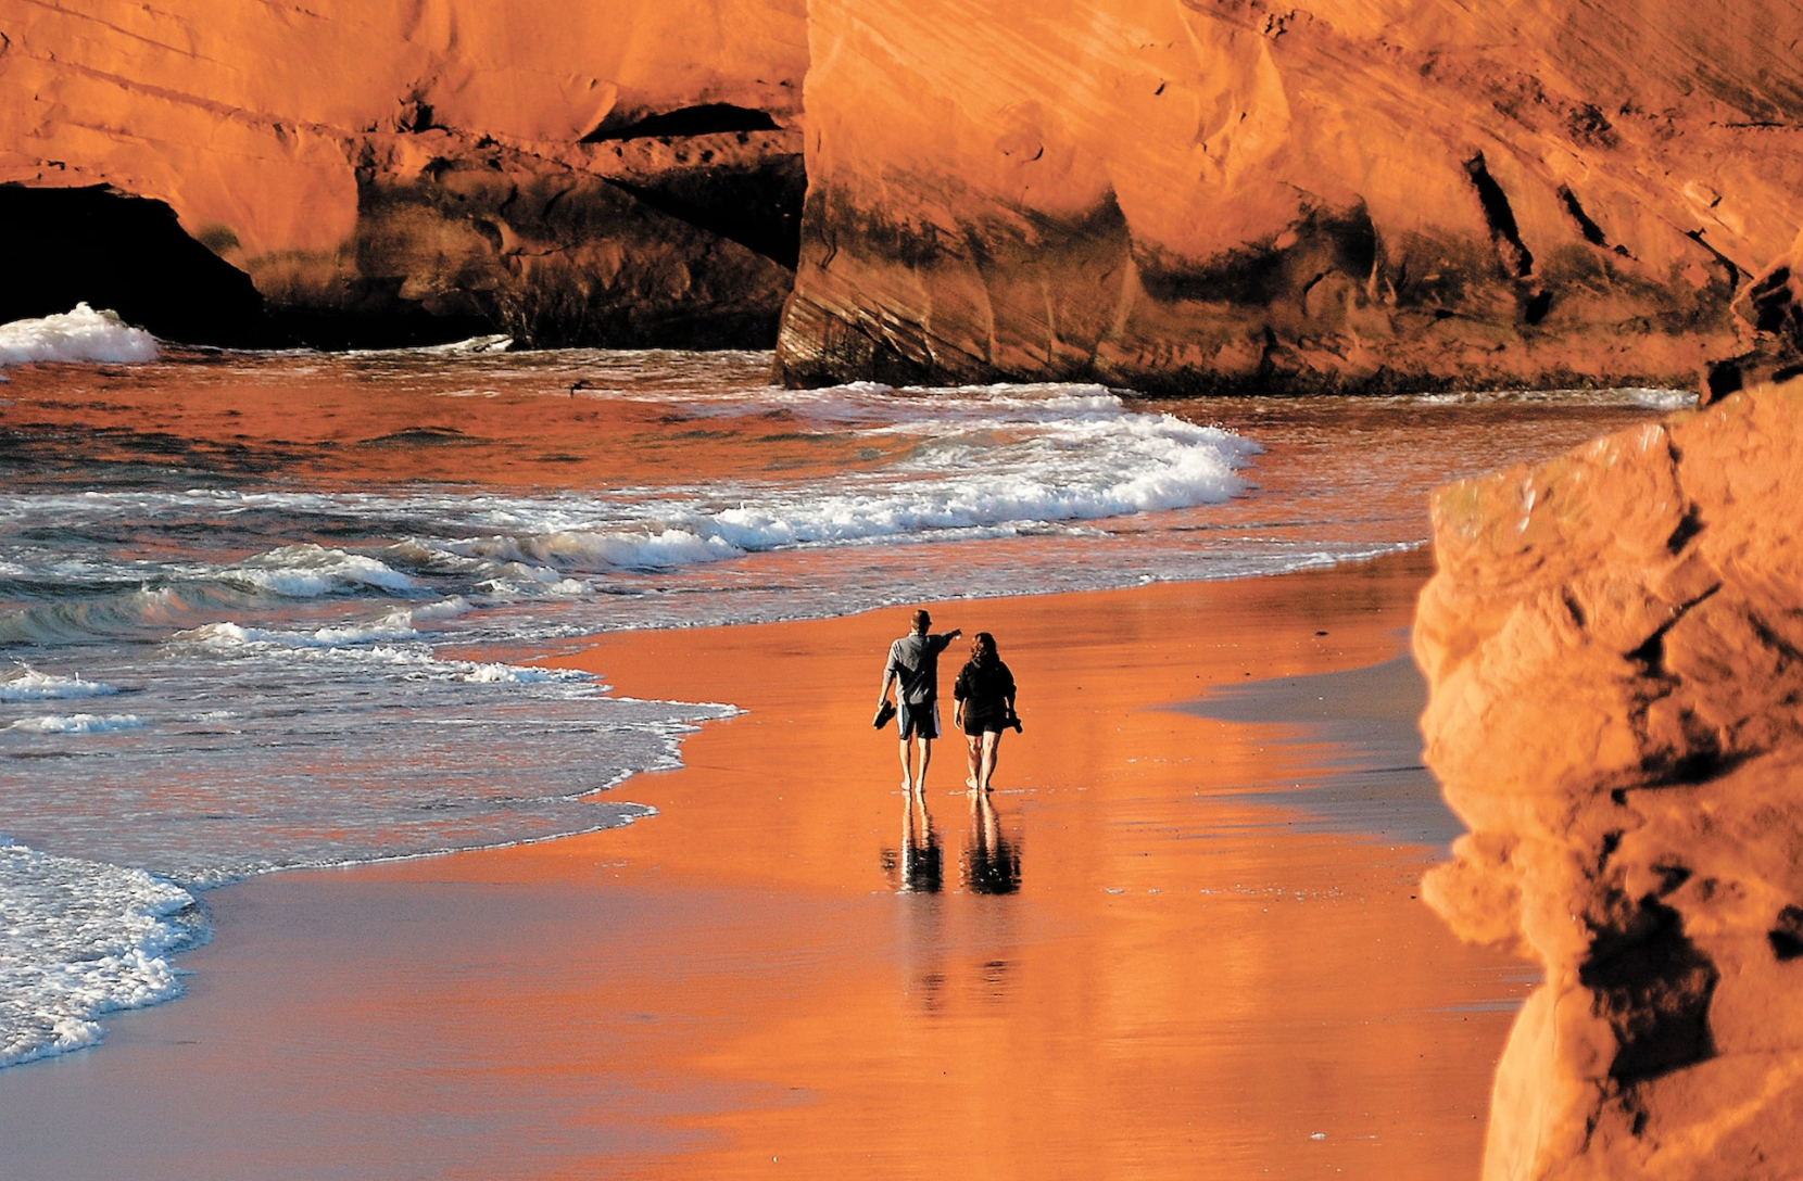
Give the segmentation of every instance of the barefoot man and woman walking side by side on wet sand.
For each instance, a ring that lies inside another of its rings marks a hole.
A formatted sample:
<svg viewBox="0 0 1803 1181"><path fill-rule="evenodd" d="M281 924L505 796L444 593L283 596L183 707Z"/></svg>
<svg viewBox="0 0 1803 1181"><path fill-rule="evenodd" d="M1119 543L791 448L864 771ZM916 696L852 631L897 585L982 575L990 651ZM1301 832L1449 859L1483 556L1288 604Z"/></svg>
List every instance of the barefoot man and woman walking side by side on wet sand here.
<svg viewBox="0 0 1803 1181"><path fill-rule="evenodd" d="M876 698L876 725L889 718L889 685L896 687L896 727L902 732L902 788L920 792L927 786L927 764L932 761L932 739L939 737L939 653L965 635L952 627L934 635L932 615L914 611L914 631L889 645L889 664L883 665L883 687ZM957 674L952 689L952 725L965 732L970 775L965 784L990 790L995 775L995 755L1002 730L1020 728L1015 716L1013 674L995 653L995 636L979 631L970 645L970 660ZM911 750L909 739L914 748ZM916 761L909 755L918 752Z"/></svg>

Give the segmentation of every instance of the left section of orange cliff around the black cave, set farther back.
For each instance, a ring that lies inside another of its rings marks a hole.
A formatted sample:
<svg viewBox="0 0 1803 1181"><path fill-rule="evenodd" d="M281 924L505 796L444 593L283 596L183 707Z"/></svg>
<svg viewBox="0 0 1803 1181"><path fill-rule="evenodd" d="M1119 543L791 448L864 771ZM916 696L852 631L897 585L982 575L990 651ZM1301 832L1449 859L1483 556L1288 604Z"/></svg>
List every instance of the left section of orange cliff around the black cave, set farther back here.
<svg viewBox="0 0 1803 1181"><path fill-rule="evenodd" d="M162 202L265 332L763 344L792 287L802 0L20 0L0 34L0 182Z"/></svg>

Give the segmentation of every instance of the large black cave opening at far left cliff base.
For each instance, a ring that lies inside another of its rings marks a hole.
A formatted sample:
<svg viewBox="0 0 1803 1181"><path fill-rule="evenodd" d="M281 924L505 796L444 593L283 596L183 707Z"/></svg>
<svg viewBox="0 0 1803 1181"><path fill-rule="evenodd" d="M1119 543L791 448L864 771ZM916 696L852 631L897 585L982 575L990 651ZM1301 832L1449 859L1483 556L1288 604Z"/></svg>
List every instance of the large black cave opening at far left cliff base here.
<svg viewBox="0 0 1803 1181"><path fill-rule="evenodd" d="M0 323L110 308L166 341L254 344L263 298L251 276L182 231L160 200L106 186L0 186Z"/></svg>

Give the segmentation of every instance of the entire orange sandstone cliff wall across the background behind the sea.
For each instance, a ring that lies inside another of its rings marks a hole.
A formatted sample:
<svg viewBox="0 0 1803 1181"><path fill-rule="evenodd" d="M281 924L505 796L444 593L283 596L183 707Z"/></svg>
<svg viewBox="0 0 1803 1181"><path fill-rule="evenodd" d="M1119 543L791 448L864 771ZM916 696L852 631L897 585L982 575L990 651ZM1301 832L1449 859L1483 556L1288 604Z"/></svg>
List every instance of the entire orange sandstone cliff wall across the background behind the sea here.
<svg viewBox="0 0 1803 1181"><path fill-rule="evenodd" d="M748 344L793 287L792 382L1689 380L1798 229L1799 38L1783 0L0 0L0 216L166 202L325 335Z"/></svg>

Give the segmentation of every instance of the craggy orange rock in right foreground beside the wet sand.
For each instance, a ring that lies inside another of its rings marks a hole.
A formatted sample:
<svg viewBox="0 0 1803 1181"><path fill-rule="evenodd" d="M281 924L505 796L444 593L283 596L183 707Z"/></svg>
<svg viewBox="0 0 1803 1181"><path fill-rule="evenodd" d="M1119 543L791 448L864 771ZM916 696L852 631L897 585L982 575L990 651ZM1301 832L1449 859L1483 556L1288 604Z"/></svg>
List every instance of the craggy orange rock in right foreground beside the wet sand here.
<svg viewBox="0 0 1803 1181"><path fill-rule="evenodd" d="M1803 1174L1799 507L1803 380L1435 499L1424 896L1545 965L1493 1181Z"/></svg>

